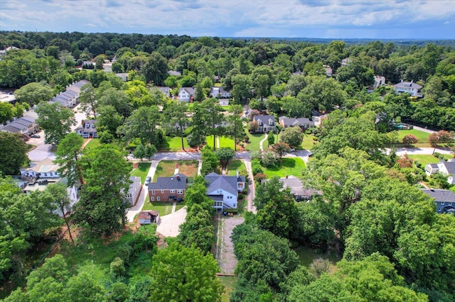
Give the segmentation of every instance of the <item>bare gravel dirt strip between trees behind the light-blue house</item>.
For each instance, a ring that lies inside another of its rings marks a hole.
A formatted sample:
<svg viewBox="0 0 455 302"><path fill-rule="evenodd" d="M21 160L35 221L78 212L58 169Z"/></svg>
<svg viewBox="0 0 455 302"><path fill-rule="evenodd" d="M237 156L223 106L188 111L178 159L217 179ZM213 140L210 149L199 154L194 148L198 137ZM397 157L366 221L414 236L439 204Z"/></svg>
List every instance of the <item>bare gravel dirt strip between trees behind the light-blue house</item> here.
<svg viewBox="0 0 455 302"><path fill-rule="evenodd" d="M218 219L217 259L222 274L234 274L235 267L237 267L237 258L234 255L234 245L230 236L232 235L232 230L243 223L243 220L245 218L239 216L221 216Z"/></svg>

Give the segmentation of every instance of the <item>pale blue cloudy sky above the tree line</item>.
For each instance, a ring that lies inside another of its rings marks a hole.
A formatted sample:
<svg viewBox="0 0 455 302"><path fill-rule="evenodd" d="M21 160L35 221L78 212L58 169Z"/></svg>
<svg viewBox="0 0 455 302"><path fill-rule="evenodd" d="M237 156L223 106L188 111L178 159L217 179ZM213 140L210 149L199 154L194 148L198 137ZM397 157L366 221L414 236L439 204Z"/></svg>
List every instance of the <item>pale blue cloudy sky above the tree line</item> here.
<svg viewBox="0 0 455 302"><path fill-rule="evenodd" d="M0 0L0 30L455 39L455 0Z"/></svg>

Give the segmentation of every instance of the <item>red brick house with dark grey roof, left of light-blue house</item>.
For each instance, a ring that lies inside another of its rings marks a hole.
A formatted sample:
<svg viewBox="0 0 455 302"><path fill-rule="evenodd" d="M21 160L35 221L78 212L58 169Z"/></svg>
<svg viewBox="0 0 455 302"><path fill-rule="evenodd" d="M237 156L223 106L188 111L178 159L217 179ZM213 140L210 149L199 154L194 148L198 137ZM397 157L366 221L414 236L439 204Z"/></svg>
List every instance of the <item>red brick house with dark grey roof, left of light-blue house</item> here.
<svg viewBox="0 0 455 302"><path fill-rule="evenodd" d="M149 184L150 201L183 201L188 180L178 173L171 177L158 177Z"/></svg>

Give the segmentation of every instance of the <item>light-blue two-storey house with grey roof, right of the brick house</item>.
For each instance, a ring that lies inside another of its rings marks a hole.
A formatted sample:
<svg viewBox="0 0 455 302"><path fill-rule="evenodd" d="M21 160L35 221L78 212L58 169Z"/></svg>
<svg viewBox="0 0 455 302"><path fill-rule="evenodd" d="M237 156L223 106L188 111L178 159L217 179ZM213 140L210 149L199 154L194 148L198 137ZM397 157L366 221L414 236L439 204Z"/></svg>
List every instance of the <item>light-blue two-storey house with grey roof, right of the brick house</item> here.
<svg viewBox="0 0 455 302"><path fill-rule="evenodd" d="M237 208L238 193L245 189L245 177L219 175L215 172L205 176L207 195L215 201L217 209Z"/></svg>

